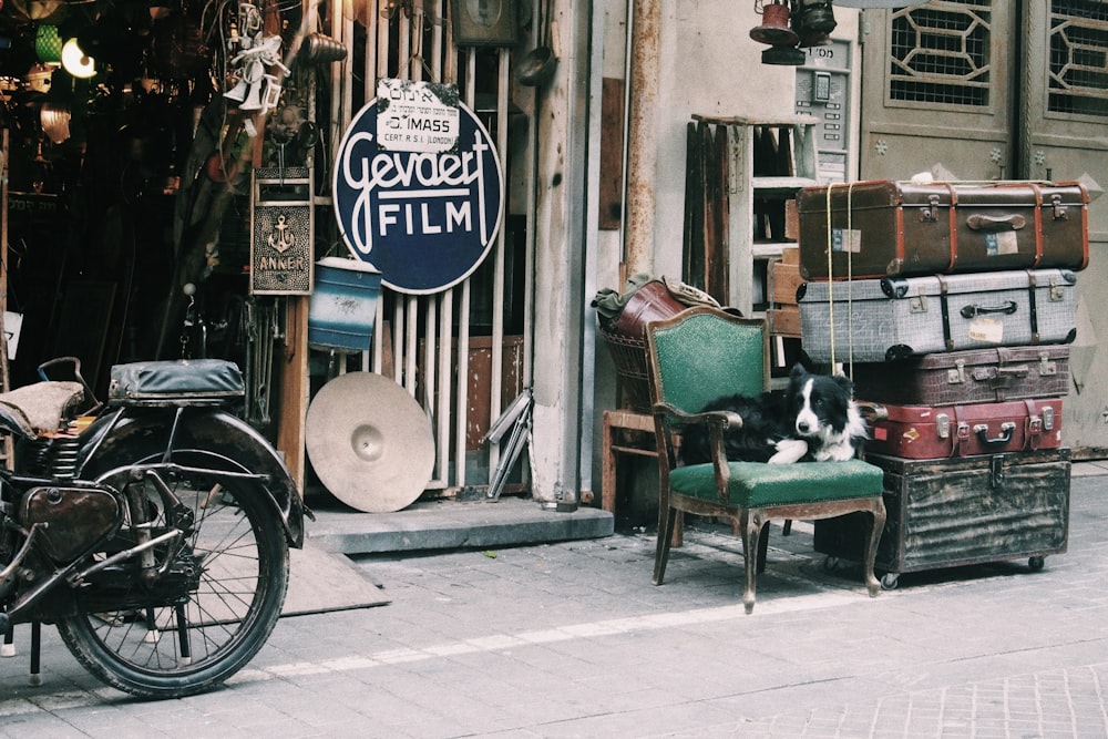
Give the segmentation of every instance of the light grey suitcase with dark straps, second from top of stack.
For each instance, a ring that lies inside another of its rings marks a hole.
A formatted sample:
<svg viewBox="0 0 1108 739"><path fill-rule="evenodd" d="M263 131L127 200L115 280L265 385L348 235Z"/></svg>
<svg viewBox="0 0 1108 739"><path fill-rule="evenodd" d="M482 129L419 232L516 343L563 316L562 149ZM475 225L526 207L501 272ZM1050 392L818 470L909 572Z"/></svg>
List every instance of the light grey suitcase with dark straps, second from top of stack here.
<svg viewBox="0 0 1108 739"><path fill-rule="evenodd" d="M856 362L1069 343L1076 283L1068 269L804 283L801 341L813 360Z"/></svg>

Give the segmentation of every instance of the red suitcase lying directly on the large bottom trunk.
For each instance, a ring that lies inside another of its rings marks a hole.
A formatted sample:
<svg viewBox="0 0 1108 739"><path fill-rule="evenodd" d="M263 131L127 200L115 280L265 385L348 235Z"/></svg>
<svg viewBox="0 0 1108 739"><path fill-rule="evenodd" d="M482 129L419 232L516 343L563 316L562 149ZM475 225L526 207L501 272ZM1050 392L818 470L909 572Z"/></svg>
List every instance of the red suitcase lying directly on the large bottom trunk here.
<svg viewBox="0 0 1108 739"><path fill-rule="evenodd" d="M866 398L866 400L870 400ZM882 406L866 451L916 460L1061 447L1061 399L968 406Z"/></svg>

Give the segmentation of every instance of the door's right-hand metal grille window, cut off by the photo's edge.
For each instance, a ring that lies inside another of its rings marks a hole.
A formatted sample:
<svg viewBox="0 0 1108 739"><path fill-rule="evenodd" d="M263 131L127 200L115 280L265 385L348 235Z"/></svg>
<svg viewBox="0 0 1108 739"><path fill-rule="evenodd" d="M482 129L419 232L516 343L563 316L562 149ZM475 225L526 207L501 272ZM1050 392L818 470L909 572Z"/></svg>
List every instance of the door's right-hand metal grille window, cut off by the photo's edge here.
<svg viewBox="0 0 1108 739"><path fill-rule="evenodd" d="M1108 117L1108 3L1051 0L1047 109Z"/></svg>

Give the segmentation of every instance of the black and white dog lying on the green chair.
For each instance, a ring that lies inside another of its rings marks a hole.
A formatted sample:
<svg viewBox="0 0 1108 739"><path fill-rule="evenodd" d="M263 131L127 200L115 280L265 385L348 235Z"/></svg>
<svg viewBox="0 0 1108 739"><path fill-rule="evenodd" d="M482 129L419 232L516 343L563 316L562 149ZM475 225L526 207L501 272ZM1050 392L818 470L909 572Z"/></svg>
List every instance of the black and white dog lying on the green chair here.
<svg viewBox="0 0 1108 739"><path fill-rule="evenodd" d="M731 461L787 464L849 460L868 438L850 379L811 374L801 365L792 368L783 393L718 398L702 410L728 410L742 417L742 427L728 429L724 437ZM704 425L686 430L681 460L685 464L711 461Z"/></svg>

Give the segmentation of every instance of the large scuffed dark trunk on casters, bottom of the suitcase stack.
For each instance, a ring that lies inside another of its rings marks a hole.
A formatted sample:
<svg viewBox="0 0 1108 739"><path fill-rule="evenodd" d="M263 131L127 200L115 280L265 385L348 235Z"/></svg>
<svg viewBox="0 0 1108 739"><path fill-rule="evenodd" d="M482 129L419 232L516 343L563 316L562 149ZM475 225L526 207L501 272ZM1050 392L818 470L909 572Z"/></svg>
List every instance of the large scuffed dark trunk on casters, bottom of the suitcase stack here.
<svg viewBox="0 0 1108 739"><path fill-rule="evenodd" d="M1069 538L1068 449L916 461L868 454L884 470L888 519L876 567L894 587L901 573L1066 551ZM864 514L815 522L817 552L860 561Z"/></svg>

